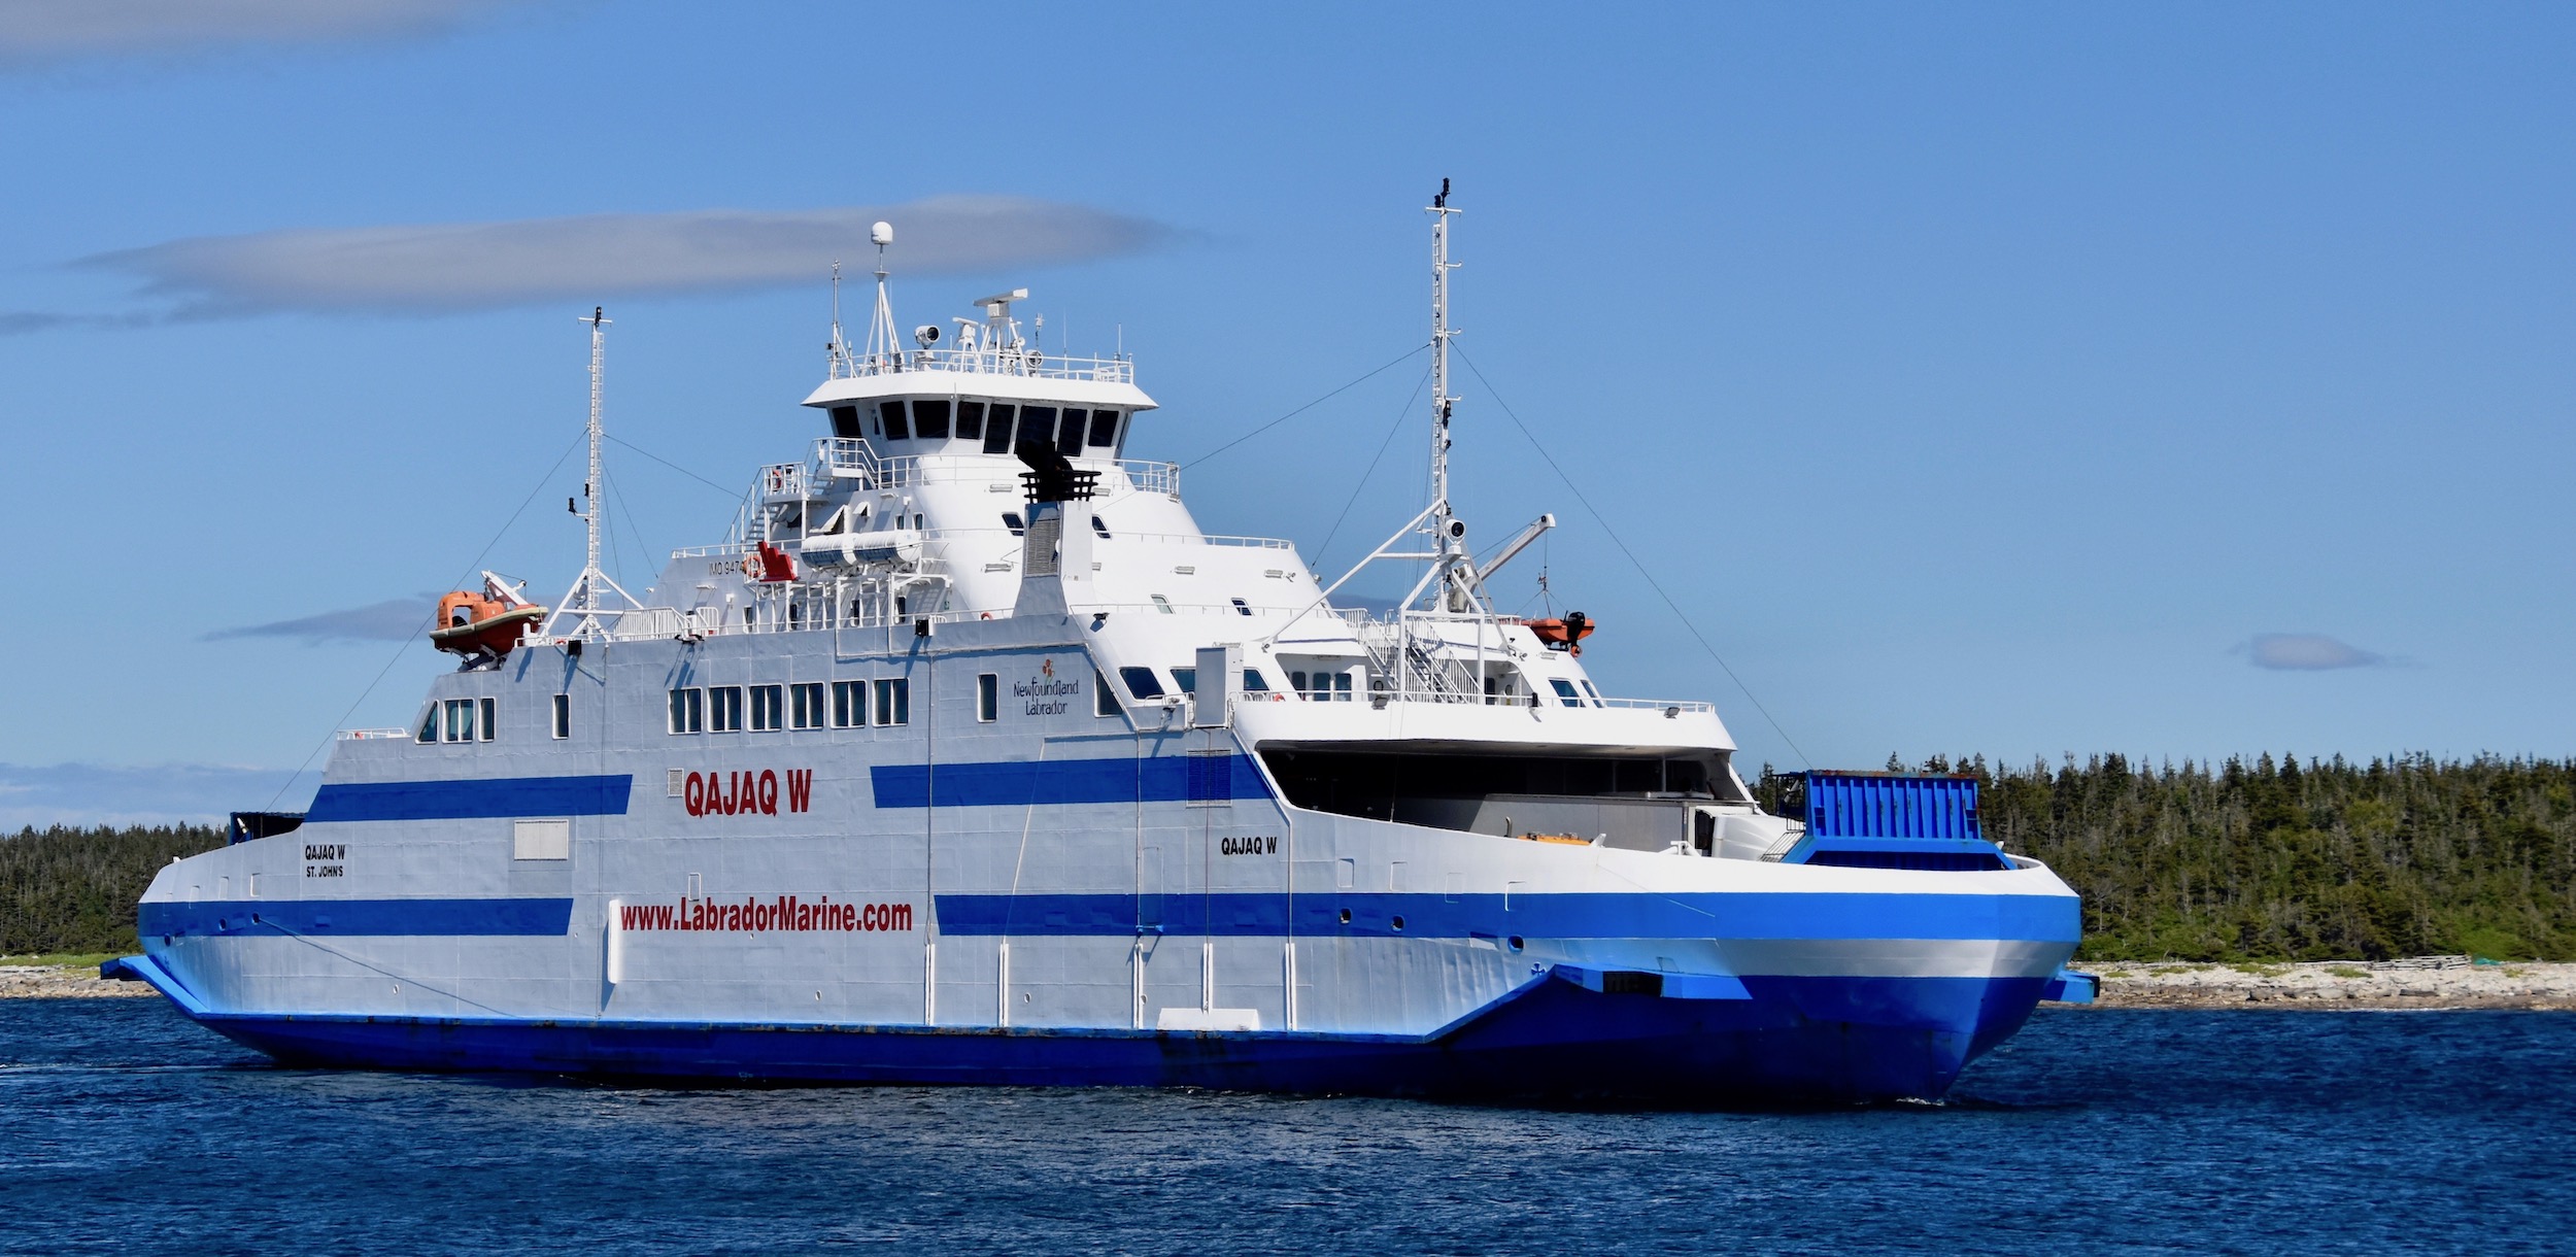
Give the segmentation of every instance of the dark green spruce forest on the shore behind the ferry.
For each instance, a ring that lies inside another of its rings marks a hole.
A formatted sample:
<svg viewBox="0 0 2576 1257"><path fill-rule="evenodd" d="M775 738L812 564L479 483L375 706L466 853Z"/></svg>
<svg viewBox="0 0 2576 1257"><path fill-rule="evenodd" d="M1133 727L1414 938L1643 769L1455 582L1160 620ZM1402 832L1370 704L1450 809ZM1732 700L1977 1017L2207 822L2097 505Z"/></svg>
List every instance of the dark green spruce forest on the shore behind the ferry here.
<svg viewBox="0 0 2576 1257"><path fill-rule="evenodd" d="M2576 958L2576 762L1888 768L1978 778L1986 837L2084 894L2084 958ZM1765 804L1790 780L1765 773ZM152 871L219 842L206 827L0 837L0 953L134 948Z"/></svg>

